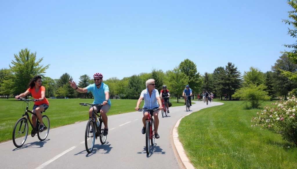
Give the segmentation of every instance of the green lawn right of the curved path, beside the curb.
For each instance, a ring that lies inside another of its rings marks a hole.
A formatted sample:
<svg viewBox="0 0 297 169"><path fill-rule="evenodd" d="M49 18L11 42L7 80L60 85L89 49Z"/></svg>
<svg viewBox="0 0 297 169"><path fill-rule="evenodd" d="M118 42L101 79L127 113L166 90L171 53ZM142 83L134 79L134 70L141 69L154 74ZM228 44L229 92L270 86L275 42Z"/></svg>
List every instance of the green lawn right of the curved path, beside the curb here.
<svg viewBox="0 0 297 169"><path fill-rule="evenodd" d="M195 168L296 168L296 146L251 127L261 109L244 110L242 101L223 103L181 120L179 139Z"/></svg>

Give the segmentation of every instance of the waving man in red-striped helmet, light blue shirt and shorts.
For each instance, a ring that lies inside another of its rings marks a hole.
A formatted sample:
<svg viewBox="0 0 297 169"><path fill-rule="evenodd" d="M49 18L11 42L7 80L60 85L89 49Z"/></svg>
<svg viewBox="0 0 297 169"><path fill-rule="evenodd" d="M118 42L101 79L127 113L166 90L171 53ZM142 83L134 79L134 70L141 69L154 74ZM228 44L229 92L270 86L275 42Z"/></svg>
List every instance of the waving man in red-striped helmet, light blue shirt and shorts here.
<svg viewBox="0 0 297 169"><path fill-rule="evenodd" d="M108 118L106 113L108 112L111 106L110 99L109 99L109 88L105 83L102 82L103 75L101 73L95 73L93 77L94 77L94 83L90 84L85 88L78 87L74 81L72 82L69 81L69 83L70 83L70 86L79 93L92 92L94 97L93 104L99 104L99 103L103 104L103 106L100 109L100 115L102 117L102 120L105 126L103 131L103 136L106 136L108 134L108 125L107 125ZM93 106L89 110L89 119L92 116L92 113L93 113L92 110L93 110ZM94 111L98 112L98 110L99 110L99 107L94 106Z"/></svg>

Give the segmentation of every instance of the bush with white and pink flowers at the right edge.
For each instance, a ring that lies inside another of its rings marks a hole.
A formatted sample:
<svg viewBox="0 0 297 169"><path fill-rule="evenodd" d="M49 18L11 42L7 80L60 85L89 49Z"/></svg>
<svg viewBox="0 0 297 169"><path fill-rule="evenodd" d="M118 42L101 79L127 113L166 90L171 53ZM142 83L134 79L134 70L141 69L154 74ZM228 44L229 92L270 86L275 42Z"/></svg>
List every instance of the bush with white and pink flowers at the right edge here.
<svg viewBox="0 0 297 169"><path fill-rule="evenodd" d="M293 142L297 146L297 99L294 95L288 95L287 101L281 99L279 102L265 106L264 110L257 112L252 118L252 127L259 126L274 133L280 134L283 139Z"/></svg>

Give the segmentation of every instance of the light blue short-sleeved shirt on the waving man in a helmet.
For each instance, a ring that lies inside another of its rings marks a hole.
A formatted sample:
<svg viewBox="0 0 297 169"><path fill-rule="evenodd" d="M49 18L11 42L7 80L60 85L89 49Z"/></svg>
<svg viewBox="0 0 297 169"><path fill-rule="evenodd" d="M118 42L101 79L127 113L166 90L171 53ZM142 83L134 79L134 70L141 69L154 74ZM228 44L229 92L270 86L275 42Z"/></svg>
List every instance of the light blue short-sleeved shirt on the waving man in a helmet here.
<svg viewBox="0 0 297 169"><path fill-rule="evenodd" d="M86 87L89 92L92 92L93 97L94 97L94 102L93 104L99 104L105 101L105 91L109 92L109 88L107 86L107 84L101 82L101 86L100 88L97 88L95 83L94 84L90 84L89 86ZM107 104L109 104L111 106L111 102L110 99L108 99Z"/></svg>

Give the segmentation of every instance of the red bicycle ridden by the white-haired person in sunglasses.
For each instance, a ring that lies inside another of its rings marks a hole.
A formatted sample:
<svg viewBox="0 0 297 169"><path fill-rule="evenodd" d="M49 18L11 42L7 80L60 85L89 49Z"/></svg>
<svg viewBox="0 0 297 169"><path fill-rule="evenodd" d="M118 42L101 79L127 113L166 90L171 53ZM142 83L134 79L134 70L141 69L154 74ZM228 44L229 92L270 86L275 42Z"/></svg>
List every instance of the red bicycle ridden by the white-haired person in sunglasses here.
<svg viewBox="0 0 297 169"><path fill-rule="evenodd" d="M149 150L151 145L155 144L155 126L154 126L154 119L153 119L153 112L159 111L159 109L139 109L138 111L147 110L149 112L149 116L146 119L146 154L149 154Z"/></svg>

